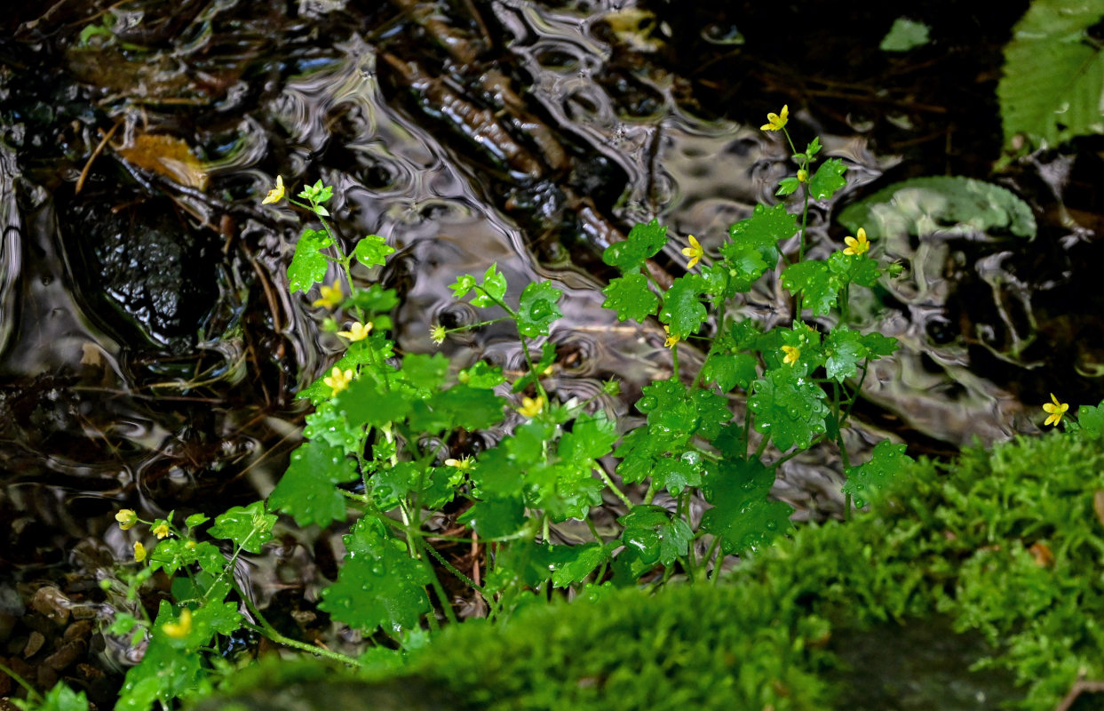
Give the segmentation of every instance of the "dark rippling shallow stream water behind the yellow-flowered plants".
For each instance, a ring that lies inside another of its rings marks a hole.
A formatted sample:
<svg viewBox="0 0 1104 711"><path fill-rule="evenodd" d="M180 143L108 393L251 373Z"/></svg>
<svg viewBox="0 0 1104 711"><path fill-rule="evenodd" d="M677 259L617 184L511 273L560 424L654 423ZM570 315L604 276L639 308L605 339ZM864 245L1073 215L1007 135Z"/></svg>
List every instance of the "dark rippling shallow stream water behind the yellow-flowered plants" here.
<svg viewBox="0 0 1104 711"><path fill-rule="evenodd" d="M842 205L895 180L988 179L994 72L1017 17L967 13L988 42L970 44L959 30L940 34L949 3L923 4L934 47L887 59L880 35L851 24L867 49L834 65L816 33L837 36L854 21L846 13L821 18L807 53L778 57L769 47L793 19L785 9L176 4L166 14L144 0L84 0L0 21L6 590L64 579L67 595L93 594L99 571L129 552L115 510L214 513L266 495L283 473L306 412L295 392L340 344L314 296L287 293L301 215L259 205L277 174L290 193L333 185L341 234L396 247L358 277L399 290L401 350L432 351L431 323L480 320L450 297L458 275L497 263L514 297L552 279L565 291L554 395L585 399L617 378L623 396L606 404L631 422L670 357L658 323L599 308L613 276L602 250L658 219L672 236L657 257L670 278L687 235L715 250L731 223L773 203L794 168L757 126L783 103L796 140L818 134L825 156L848 166L847 188L811 210L815 256L847 234L834 221ZM884 93L868 91L877 83ZM952 455L1036 432L1051 391L1074 406L1100 401L1102 297L1090 275L1101 162L1094 150L1039 152L997 177L1032 205L1033 242L936 230L888 255L906 276L882 285L862 325L901 350L866 382L847 435L857 450L889 435L912 454ZM765 326L793 319L776 282L739 308ZM523 363L507 328L440 350L464 364ZM700 354L684 353L694 372ZM841 480L836 454L816 449L787 463L775 494L799 518L824 518L841 509ZM247 577L259 602L279 596L299 612L335 555L329 537L287 533ZM21 614L21 597L2 596L0 613Z"/></svg>

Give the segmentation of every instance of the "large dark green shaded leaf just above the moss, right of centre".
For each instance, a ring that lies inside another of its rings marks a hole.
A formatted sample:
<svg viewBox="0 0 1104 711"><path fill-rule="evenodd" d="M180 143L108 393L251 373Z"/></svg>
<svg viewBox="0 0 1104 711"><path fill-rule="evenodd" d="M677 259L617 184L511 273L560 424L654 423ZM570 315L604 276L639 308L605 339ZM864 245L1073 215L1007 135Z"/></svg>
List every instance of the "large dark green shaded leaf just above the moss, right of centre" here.
<svg viewBox="0 0 1104 711"><path fill-rule="evenodd" d="M702 530L723 537L725 553L768 545L794 528L793 507L767 498L773 485L774 471L758 459L721 460L702 485L705 500L713 505L702 516Z"/></svg>

